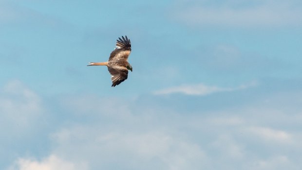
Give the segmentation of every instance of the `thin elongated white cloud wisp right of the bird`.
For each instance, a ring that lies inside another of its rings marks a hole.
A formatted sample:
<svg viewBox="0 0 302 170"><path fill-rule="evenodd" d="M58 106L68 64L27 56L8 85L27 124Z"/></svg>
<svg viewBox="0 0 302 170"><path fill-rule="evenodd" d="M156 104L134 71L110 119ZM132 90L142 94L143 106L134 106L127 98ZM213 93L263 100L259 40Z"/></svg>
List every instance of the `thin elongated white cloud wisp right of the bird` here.
<svg viewBox="0 0 302 170"><path fill-rule="evenodd" d="M173 94L173 93L181 93L186 95L199 95L205 96L212 93L217 92L227 92L227 91L235 91L240 89L245 89L251 86L257 85L256 82L252 82L248 85L241 85L234 88L226 88L226 87L217 87L217 86L208 86L204 84L198 85L180 85L175 87L170 87L162 90L157 90L154 92L155 95L164 95L164 94Z"/></svg>

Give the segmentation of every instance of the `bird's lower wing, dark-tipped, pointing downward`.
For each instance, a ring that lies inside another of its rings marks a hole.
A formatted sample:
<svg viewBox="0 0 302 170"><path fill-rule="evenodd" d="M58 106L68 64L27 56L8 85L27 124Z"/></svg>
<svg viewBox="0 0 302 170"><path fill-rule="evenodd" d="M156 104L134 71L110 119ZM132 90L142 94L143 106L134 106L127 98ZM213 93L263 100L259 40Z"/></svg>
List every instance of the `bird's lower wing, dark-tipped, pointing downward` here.
<svg viewBox="0 0 302 170"><path fill-rule="evenodd" d="M108 70L110 72L111 76L111 80L112 80L112 87L114 87L115 85L119 85L120 83L122 83L123 81L125 81L128 78L128 69L127 68L123 68L123 67L119 67L119 68L112 68L112 67L108 67Z"/></svg>

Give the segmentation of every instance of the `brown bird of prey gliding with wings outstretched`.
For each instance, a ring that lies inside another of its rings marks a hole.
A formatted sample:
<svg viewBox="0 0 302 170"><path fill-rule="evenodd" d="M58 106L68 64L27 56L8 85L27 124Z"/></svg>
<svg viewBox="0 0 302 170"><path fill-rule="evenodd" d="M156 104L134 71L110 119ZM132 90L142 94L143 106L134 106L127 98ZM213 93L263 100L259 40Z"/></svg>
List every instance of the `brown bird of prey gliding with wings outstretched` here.
<svg viewBox="0 0 302 170"><path fill-rule="evenodd" d="M128 63L131 52L131 41L127 36L122 36L116 40L116 48L111 52L107 62L93 63L87 66L107 66L111 74L112 86L119 85L128 77L128 70L132 71L132 66Z"/></svg>

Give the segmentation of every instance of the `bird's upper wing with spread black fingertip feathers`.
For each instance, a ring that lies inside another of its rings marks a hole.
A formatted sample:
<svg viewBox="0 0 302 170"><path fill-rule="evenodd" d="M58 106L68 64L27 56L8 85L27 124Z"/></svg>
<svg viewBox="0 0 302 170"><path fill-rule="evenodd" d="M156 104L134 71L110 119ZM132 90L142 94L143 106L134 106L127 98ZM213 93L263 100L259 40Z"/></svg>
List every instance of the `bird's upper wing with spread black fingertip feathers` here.
<svg viewBox="0 0 302 170"><path fill-rule="evenodd" d="M131 52L131 41L127 36L122 36L116 40L116 48L111 52L109 62L127 61Z"/></svg>

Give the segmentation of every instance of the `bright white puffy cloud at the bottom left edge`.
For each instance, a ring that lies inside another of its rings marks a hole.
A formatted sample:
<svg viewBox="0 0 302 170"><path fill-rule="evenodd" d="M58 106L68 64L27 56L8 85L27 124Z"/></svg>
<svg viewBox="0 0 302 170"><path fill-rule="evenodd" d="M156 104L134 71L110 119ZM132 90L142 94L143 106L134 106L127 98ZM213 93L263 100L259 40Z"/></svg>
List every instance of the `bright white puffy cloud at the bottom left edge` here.
<svg viewBox="0 0 302 170"><path fill-rule="evenodd" d="M56 155L37 161L34 159L20 158L8 170L88 170L84 164L74 164L62 160Z"/></svg>

